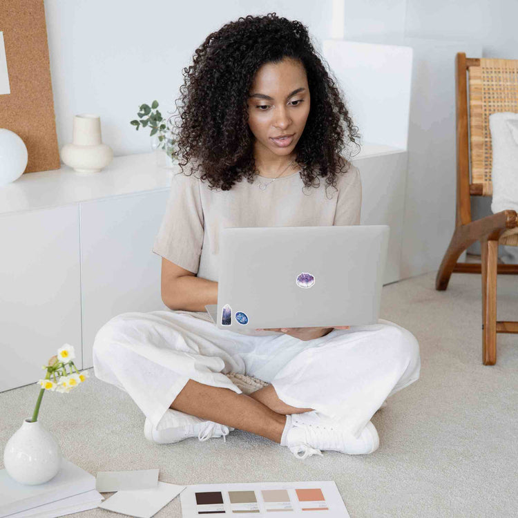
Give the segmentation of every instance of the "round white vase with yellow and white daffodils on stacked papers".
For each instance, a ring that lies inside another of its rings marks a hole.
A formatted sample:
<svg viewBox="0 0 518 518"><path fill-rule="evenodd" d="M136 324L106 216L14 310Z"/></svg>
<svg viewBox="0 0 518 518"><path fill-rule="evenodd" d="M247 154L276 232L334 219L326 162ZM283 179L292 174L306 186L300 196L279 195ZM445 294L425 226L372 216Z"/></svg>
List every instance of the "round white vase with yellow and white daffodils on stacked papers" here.
<svg viewBox="0 0 518 518"><path fill-rule="evenodd" d="M38 421L39 407L44 392L70 392L84 383L88 372L79 372L74 365L74 347L66 343L57 350L47 365L44 379L37 383L41 387L32 419L25 419L21 428L9 439L3 451L6 471L17 482L35 486L49 481L61 469L61 448L54 436ZM68 367L68 372L67 372Z"/></svg>

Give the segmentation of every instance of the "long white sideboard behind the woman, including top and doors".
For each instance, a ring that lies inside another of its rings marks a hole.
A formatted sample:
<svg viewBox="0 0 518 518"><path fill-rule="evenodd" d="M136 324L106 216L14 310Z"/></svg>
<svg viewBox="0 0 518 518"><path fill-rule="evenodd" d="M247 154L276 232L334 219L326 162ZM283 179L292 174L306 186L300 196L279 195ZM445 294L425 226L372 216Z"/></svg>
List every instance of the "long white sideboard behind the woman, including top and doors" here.
<svg viewBox="0 0 518 518"><path fill-rule="evenodd" d="M354 164L362 224L391 228L384 283L399 280L407 153L365 144ZM115 157L101 173L68 166L0 187L0 392L35 383L57 349L92 367L97 330L128 311L167 309L152 253L175 169L154 153Z"/></svg>

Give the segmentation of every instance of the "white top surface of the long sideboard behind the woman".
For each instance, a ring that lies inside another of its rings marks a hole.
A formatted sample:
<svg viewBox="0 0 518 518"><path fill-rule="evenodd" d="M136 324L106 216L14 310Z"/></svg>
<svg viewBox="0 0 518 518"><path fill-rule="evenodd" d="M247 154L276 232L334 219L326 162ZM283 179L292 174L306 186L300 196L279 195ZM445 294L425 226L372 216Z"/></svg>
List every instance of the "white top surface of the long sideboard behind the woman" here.
<svg viewBox="0 0 518 518"><path fill-rule="evenodd" d="M354 153L356 150L353 146ZM394 146L365 143L352 161L404 152ZM113 157L99 173L80 174L66 165L54 171L25 173L15 182L0 186L0 215L169 189L173 174L179 171L176 164L172 169L157 166L151 152Z"/></svg>

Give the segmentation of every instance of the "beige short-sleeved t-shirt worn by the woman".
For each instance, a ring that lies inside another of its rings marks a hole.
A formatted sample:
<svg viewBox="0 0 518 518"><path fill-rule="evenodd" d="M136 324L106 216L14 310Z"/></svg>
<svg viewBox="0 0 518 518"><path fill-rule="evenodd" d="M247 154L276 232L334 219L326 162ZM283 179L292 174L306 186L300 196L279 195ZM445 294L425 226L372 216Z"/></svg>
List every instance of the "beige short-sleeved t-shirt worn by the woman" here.
<svg viewBox="0 0 518 518"><path fill-rule="evenodd" d="M305 187L300 171L271 182L236 182L230 191L211 191L200 173L173 175L171 192L153 253L198 277L218 281L218 242L225 227L322 227L360 224L360 171L351 166L325 184ZM268 184L265 190L259 183ZM318 181L317 181L318 182Z"/></svg>

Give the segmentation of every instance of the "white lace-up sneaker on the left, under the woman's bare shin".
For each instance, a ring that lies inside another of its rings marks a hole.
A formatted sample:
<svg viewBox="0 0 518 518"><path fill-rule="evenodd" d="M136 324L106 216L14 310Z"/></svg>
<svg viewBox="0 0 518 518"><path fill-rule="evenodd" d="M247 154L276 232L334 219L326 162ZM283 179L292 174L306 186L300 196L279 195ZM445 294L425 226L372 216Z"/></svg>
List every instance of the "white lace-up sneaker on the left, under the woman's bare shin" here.
<svg viewBox="0 0 518 518"><path fill-rule="evenodd" d="M172 408L166 410L156 428L147 417L144 422L144 437L148 441L160 444L178 443L188 437L198 437L200 441L207 441L211 437L223 437L223 441L227 442L227 435L232 430L234 428L214 421L204 421Z"/></svg>

